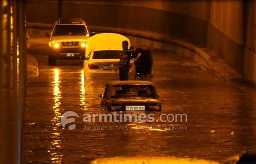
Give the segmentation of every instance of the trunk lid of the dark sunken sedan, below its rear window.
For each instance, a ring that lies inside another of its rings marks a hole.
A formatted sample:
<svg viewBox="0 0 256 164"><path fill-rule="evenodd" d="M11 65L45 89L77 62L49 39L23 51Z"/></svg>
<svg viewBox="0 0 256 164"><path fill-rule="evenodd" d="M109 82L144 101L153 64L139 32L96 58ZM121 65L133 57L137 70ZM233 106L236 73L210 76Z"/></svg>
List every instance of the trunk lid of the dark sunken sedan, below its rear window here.
<svg viewBox="0 0 256 164"><path fill-rule="evenodd" d="M158 104L154 98L113 98L112 104Z"/></svg>

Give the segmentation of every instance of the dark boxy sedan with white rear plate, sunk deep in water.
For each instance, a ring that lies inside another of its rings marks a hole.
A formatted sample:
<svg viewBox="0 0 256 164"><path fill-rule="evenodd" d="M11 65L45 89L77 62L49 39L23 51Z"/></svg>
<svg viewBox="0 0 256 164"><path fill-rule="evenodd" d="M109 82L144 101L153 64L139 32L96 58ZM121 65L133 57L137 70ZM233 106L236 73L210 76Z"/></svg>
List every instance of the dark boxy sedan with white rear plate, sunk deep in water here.
<svg viewBox="0 0 256 164"><path fill-rule="evenodd" d="M112 81L107 83L101 109L116 111L161 110L157 90L149 81Z"/></svg>

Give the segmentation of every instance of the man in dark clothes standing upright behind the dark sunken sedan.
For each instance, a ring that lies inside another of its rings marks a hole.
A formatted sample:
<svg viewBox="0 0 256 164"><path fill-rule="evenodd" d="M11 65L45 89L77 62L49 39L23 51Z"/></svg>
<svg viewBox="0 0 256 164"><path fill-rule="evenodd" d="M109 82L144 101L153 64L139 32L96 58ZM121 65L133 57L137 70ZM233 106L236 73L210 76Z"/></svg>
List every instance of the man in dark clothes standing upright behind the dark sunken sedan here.
<svg viewBox="0 0 256 164"><path fill-rule="evenodd" d="M128 49L128 41L122 42L122 53L119 61L119 77L120 81L128 80L129 64L131 59L131 51Z"/></svg>

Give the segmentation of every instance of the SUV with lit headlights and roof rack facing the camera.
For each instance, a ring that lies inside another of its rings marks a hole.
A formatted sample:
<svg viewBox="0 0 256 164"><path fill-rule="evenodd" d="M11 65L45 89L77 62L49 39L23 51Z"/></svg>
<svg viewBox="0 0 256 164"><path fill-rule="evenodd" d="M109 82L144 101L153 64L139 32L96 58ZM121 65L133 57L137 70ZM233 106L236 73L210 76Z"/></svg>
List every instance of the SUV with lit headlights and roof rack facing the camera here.
<svg viewBox="0 0 256 164"><path fill-rule="evenodd" d="M90 37L84 20L59 19L53 26L49 37L49 64L55 65L56 60L80 59L85 54L86 40Z"/></svg>

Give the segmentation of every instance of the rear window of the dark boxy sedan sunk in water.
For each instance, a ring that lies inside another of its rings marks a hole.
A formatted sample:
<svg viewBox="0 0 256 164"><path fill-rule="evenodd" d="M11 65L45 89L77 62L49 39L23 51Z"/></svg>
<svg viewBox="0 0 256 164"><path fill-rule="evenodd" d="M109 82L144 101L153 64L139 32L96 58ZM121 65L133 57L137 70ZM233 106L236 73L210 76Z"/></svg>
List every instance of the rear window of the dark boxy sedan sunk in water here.
<svg viewBox="0 0 256 164"><path fill-rule="evenodd" d="M112 86L111 98L156 98L154 86L151 85L116 85Z"/></svg>

